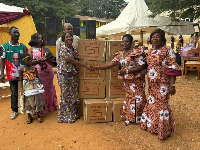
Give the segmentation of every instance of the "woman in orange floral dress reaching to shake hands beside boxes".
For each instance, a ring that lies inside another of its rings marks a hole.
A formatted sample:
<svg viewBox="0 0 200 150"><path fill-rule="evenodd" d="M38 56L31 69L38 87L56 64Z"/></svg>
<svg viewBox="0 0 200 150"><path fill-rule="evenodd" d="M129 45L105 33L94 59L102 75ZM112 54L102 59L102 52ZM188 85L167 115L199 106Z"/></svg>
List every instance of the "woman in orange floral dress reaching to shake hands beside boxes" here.
<svg viewBox="0 0 200 150"><path fill-rule="evenodd" d="M120 65L118 78L123 80L126 91L122 119L125 125L131 122L139 123L143 108L146 104L145 96L145 53L144 47L131 49L133 37L126 34L122 38L124 51L118 51L114 59L106 65L94 67L97 70L109 69Z"/></svg>

